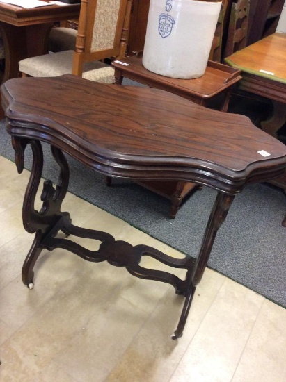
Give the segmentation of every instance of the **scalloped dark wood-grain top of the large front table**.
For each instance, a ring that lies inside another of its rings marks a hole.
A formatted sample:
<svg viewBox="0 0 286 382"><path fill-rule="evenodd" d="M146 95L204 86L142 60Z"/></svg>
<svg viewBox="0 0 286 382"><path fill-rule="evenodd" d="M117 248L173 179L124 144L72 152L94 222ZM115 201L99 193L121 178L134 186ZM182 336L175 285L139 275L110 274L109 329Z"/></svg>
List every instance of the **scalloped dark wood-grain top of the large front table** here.
<svg viewBox="0 0 286 382"><path fill-rule="evenodd" d="M1 90L11 135L48 142L109 176L194 181L236 194L286 165L285 145L248 117L163 90L72 75L14 78Z"/></svg>

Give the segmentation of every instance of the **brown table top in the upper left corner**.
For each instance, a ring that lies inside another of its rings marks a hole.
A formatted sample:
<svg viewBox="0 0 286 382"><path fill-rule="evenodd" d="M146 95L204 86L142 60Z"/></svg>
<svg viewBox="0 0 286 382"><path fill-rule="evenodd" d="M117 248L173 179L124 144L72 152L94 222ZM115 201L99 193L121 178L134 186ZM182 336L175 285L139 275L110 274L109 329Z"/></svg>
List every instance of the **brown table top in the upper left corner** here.
<svg viewBox="0 0 286 382"><path fill-rule="evenodd" d="M48 2L48 1L47 1ZM51 4L36 8L21 8L12 4L0 3L0 22L15 26L45 24L79 16L80 4Z"/></svg>

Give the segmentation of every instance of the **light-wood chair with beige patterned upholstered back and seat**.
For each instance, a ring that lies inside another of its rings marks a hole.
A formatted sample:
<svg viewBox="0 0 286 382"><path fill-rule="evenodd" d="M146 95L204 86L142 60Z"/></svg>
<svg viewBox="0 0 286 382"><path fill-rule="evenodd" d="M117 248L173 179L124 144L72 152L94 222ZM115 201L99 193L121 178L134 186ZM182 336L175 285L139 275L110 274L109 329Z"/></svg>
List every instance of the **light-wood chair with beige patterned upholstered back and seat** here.
<svg viewBox="0 0 286 382"><path fill-rule="evenodd" d="M22 76L76 74L114 83L114 69L100 60L125 56L130 10L130 0L82 0L74 51L26 58L19 62L19 71Z"/></svg>

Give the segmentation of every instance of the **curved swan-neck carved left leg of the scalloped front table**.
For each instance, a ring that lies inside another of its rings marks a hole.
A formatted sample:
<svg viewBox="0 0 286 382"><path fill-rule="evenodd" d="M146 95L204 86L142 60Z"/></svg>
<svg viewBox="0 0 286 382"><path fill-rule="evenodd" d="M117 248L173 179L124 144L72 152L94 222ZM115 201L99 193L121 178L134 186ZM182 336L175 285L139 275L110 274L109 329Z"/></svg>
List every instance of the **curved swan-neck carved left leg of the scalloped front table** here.
<svg viewBox="0 0 286 382"><path fill-rule="evenodd" d="M43 248L43 242L49 233L54 229L61 219L70 219L68 213L61 213L61 204L67 192L69 181L69 168L67 161L60 150L51 147L54 159L61 169L56 188L51 181L44 182L42 190L42 208L35 210L35 195L37 194L42 176L42 146L39 141L26 140L22 138L13 138L13 147L15 149L15 162L18 172L21 173L24 168L24 150L26 145L30 144L33 152L33 166L29 183L26 188L23 204L23 224L26 231L35 233L35 239L26 256L22 268L22 280L26 285L33 285L33 266Z"/></svg>

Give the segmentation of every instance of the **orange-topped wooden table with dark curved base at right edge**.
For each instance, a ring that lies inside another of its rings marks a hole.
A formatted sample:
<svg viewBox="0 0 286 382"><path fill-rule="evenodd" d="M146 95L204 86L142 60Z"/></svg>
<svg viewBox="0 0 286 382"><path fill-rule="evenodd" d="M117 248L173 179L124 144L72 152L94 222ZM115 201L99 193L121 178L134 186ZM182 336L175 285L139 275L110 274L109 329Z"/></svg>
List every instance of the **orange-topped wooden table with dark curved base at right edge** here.
<svg viewBox="0 0 286 382"><path fill-rule="evenodd" d="M273 33L237 51L225 62L241 70L239 88L273 101L273 116L262 122L262 130L277 136L286 122L286 34ZM273 181L286 190L286 178Z"/></svg>

